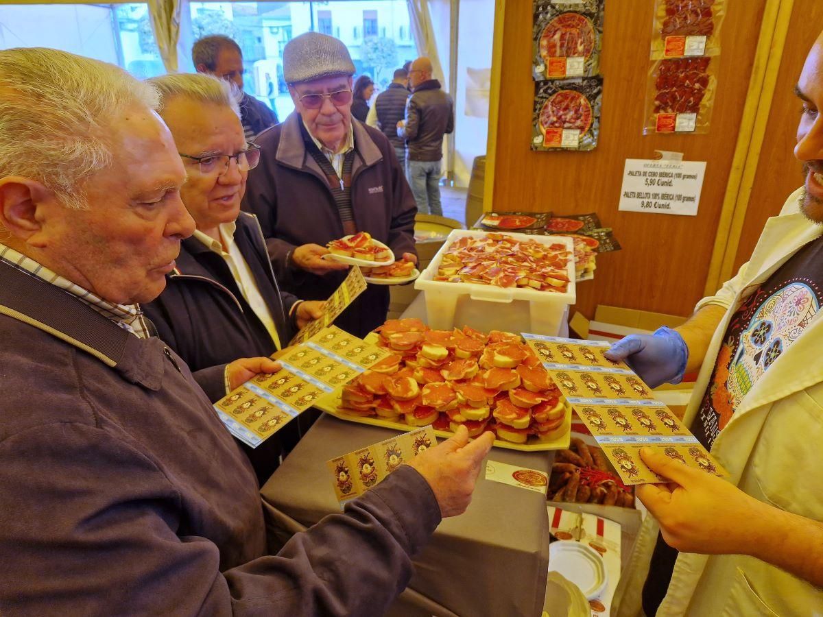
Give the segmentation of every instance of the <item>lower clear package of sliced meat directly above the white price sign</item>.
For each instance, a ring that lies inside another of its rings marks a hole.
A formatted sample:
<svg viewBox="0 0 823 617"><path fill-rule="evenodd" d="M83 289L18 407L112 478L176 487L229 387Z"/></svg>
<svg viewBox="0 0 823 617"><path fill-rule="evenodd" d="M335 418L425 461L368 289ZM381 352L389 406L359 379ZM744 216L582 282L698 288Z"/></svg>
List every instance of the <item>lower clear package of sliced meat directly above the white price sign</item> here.
<svg viewBox="0 0 823 617"><path fill-rule="evenodd" d="M652 63L644 135L709 132L719 58L671 58Z"/></svg>

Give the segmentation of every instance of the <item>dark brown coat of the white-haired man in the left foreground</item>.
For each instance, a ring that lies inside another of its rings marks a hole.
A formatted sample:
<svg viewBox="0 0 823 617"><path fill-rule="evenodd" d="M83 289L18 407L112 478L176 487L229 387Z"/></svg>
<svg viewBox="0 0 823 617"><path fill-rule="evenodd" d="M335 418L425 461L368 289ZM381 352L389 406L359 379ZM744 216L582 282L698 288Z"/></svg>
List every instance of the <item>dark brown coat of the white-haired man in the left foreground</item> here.
<svg viewBox="0 0 823 617"><path fill-rule="evenodd" d="M0 341L3 617L383 615L439 523L402 466L267 554L251 466L163 341L4 262Z"/></svg>

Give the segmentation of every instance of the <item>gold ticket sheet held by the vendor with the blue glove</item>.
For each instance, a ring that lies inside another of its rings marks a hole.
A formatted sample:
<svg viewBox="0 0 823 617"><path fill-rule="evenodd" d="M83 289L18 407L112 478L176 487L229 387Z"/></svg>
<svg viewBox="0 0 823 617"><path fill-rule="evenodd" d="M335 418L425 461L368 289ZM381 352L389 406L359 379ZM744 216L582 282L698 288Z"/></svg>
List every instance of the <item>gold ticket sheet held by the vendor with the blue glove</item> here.
<svg viewBox="0 0 823 617"><path fill-rule="evenodd" d="M625 485L663 480L641 460L639 449L644 447L715 476L728 476L627 364L607 359L609 343L527 333L523 338Z"/></svg>

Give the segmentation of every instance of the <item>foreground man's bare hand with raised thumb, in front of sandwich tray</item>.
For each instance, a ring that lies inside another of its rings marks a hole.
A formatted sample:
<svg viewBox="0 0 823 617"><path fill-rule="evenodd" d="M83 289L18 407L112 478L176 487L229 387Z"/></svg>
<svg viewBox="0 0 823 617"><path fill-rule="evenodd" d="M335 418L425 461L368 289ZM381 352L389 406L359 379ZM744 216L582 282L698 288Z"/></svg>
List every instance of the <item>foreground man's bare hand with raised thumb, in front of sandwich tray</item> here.
<svg viewBox="0 0 823 617"><path fill-rule="evenodd" d="M431 486L444 518L455 517L468 508L481 463L494 441L493 433L484 433L469 443L468 430L461 426L452 438L429 448L408 463Z"/></svg>

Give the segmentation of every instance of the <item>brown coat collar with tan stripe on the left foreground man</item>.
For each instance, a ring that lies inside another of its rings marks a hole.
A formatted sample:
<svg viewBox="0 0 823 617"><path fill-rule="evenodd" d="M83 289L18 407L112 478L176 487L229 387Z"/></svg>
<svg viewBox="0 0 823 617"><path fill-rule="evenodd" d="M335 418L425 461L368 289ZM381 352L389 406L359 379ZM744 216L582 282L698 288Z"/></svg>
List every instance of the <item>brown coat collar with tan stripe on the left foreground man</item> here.
<svg viewBox="0 0 823 617"><path fill-rule="evenodd" d="M85 351L131 383L162 385L165 346L156 336L140 339L77 297L0 262L0 313Z"/></svg>

